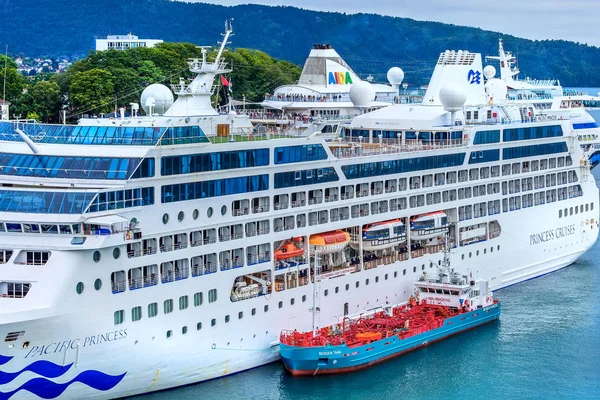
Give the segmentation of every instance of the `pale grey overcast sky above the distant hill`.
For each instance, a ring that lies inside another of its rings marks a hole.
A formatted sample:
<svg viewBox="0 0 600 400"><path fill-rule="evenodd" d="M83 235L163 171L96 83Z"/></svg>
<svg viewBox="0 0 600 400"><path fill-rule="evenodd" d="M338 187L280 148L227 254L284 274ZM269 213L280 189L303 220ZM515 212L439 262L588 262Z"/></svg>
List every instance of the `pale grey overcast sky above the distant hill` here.
<svg viewBox="0 0 600 400"><path fill-rule="evenodd" d="M565 39L600 46L600 0L185 0L221 5L286 5L375 13L475 26L529 39Z"/></svg>

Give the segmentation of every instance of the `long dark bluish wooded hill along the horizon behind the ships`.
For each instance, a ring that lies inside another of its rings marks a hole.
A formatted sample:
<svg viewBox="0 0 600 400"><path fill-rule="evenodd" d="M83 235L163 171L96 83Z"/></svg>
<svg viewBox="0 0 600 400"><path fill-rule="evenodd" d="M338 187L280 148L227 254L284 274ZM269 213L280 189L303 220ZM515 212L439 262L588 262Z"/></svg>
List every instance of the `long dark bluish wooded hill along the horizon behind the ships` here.
<svg viewBox="0 0 600 400"><path fill-rule="evenodd" d="M519 53L522 77L558 78L565 86L600 86L600 48L532 41L496 32L371 14L345 15L292 7L224 7L168 0L0 0L0 42L11 53L86 54L94 36L131 31L165 41L214 44L234 18L234 47L258 49L301 64L313 43L330 43L362 75L380 80L393 65L406 80L428 80L441 51L495 54L499 37Z"/></svg>

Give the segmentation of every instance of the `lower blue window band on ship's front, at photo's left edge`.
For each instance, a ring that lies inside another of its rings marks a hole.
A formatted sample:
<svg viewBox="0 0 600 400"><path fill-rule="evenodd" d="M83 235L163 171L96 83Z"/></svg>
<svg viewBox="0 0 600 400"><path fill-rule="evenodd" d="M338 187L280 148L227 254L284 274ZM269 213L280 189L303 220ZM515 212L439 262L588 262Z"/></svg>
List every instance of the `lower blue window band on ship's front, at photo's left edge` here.
<svg viewBox="0 0 600 400"><path fill-rule="evenodd" d="M0 190L0 212L81 214L96 193Z"/></svg>

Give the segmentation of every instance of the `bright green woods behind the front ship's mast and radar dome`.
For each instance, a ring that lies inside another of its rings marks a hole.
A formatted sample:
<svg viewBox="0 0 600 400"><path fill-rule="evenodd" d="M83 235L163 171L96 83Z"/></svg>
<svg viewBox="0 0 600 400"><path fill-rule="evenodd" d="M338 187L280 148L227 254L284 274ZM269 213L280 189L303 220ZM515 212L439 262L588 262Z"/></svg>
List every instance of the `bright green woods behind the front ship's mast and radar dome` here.
<svg viewBox="0 0 600 400"><path fill-rule="evenodd" d="M212 59L215 51L210 51ZM6 99L11 117L59 122L61 110L70 120L82 115L114 112L139 102L141 92L152 83L167 86L180 78L191 79L189 58L201 58L190 43L161 43L154 48L91 52L66 72L24 77L13 60L7 62ZM266 53L243 48L224 54L233 68L227 79L237 98L261 101L274 87L294 83L300 67L276 60ZM4 56L0 55L0 87L3 85Z"/></svg>

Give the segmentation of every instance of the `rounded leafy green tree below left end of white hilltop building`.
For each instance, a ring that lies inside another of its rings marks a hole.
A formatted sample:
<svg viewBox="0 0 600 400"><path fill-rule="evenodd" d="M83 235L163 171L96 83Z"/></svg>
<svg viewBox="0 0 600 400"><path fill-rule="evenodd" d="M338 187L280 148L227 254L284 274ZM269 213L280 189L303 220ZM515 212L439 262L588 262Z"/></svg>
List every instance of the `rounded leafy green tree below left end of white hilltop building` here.
<svg viewBox="0 0 600 400"><path fill-rule="evenodd" d="M106 70L93 68L71 78L69 99L78 113L108 113L114 108L114 77Z"/></svg>

